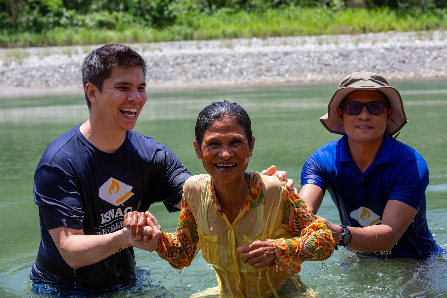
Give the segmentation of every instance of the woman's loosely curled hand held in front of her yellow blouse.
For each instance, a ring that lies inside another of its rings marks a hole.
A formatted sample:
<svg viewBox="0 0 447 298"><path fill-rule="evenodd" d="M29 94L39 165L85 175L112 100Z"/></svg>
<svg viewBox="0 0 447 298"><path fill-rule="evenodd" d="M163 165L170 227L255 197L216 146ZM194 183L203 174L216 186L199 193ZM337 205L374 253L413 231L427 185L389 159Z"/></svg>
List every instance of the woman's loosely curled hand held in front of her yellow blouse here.
<svg viewBox="0 0 447 298"><path fill-rule="evenodd" d="M237 252L243 253L242 262L251 265L254 269L270 267L276 258L275 248L268 240L257 240L237 248Z"/></svg>

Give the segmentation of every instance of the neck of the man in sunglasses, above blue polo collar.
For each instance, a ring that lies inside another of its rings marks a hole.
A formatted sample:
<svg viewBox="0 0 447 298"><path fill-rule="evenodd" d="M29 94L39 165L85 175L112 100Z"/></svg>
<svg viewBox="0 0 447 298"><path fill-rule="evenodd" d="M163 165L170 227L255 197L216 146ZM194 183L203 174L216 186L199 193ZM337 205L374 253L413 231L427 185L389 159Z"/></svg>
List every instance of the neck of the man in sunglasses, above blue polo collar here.
<svg viewBox="0 0 447 298"><path fill-rule="evenodd" d="M375 140L373 142L360 143L355 142L348 136L348 145L351 158L362 173L365 172L374 162L375 156L377 155L377 152L379 152L382 142L383 139L380 139L380 141Z"/></svg>

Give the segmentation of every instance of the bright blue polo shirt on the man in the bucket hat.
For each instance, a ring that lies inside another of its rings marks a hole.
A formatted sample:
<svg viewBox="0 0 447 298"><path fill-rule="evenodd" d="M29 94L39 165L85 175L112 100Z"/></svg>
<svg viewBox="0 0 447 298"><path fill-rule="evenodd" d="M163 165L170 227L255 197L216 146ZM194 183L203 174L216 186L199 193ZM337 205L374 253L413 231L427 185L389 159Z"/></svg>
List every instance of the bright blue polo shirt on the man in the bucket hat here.
<svg viewBox="0 0 447 298"><path fill-rule="evenodd" d="M417 214L392 248L393 256L418 257L440 251L427 226L425 189L428 168L416 150L384 135L374 162L362 173L351 159L348 137L319 148L304 164L301 185L329 191L342 224L367 227L380 224L388 200L414 207Z"/></svg>

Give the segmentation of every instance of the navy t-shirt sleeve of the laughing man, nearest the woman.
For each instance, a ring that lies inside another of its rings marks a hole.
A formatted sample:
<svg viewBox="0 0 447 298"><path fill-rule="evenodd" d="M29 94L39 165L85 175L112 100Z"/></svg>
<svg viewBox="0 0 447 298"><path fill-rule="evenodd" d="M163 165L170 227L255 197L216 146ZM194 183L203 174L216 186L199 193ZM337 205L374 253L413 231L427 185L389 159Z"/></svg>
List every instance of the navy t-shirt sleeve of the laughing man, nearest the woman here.
<svg viewBox="0 0 447 298"><path fill-rule="evenodd" d="M160 165L157 201L162 201L169 212L179 211L175 206L180 203L183 184L191 174L174 152L164 145L163 150L156 153L156 163Z"/></svg>

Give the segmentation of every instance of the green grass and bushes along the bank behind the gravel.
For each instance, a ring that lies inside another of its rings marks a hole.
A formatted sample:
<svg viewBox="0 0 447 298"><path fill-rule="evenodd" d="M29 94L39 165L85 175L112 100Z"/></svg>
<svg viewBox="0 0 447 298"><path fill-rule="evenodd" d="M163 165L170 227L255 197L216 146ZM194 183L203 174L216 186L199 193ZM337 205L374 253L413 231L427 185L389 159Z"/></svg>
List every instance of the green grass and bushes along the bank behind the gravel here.
<svg viewBox="0 0 447 298"><path fill-rule="evenodd" d="M0 47L447 29L447 0L0 0Z"/></svg>

